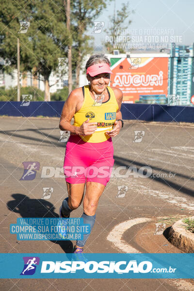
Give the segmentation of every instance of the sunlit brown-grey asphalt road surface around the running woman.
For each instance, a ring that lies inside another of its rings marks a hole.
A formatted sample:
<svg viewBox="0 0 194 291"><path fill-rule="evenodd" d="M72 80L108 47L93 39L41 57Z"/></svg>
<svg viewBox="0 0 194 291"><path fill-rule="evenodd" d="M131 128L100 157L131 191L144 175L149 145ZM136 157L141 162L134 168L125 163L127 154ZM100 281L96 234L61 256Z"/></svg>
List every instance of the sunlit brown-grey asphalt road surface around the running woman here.
<svg viewBox="0 0 194 291"><path fill-rule="evenodd" d="M0 117L1 253L72 251L75 242L17 241L16 235L9 233L9 225L16 223L18 217L58 217L59 207L67 196L65 179L59 172L66 143L59 142L58 125L58 118ZM135 136L135 131L140 133L136 132ZM194 125L126 121L120 134L113 138L113 145L114 166L123 168L111 178L100 198L96 224L84 251L181 253L163 234L157 233L156 223L165 223L163 227L168 230L173 221L194 213ZM33 180L20 180L22 162L39 162ZM130 173L125 177L127 166ZM44 167L52 167L56 176L41 178ZM148 172L144 167L149 167ZM119 192L121 187L123 190ZM42 199L43 188L53 188L49 199ZM81 214L82 206L71 217ZM119 236L113 229L125 221L129 227L124 227ZM2 291L108 289L191 291L194 280L0 280Z"/></svg>

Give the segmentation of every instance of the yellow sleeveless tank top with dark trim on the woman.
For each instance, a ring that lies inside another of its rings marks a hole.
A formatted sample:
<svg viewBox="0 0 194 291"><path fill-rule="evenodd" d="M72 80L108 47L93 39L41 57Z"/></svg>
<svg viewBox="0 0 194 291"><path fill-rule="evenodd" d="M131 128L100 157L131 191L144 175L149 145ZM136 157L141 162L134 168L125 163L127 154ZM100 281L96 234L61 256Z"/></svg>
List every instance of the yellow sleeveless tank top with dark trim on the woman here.
<svg viewBox="0 0 194 291"><path fill-rule="evenodd" d="M88 118L90 122L97 122L97 129L91 135L80 136L84 142L101 143L107 141L110 136L105 132L113 129L116 120L118 104L111 87L107 87L109 99L102 103L97 103L90 95L89 85L82 87L84 101L81 109L74 114L74 126L81 124Z"/></svg>

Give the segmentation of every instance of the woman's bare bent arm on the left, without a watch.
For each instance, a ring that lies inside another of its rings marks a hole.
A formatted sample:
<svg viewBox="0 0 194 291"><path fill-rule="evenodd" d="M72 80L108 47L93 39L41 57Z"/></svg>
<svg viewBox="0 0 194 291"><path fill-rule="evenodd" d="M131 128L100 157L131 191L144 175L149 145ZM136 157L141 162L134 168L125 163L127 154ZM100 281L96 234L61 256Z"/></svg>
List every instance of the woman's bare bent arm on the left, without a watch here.
<svg viewBox="0 0 194 291"><path fill-rule="evenodd" d="M90 135L97 129L97 123L89 123L89 118L82 123L80 127L71 125L71 119L76 113L76 106L80 102L80 90L73 90L65 101L59 128L61 130L68 130L77 135Z"/></svg>

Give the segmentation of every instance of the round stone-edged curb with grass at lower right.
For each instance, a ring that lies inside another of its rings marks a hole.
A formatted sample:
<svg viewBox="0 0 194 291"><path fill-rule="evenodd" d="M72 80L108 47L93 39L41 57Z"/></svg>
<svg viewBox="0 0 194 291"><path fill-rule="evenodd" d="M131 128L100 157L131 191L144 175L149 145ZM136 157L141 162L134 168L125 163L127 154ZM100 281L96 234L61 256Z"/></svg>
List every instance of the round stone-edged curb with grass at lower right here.
<svg viewBox="0 0 194 291"><path fill-rule="evenodd" d="M189 217L194 219L194 216ZM194 233L184 228L186 224L178 220L169 231L169 241L185 253L194 253Z"/></svg>

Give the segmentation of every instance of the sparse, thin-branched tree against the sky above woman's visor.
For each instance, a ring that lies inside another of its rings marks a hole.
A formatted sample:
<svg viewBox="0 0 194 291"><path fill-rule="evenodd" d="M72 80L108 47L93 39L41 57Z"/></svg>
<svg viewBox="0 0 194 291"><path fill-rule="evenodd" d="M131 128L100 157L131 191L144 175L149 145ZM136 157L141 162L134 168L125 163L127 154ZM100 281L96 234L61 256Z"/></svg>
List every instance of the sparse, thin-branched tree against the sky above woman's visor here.
<svg viewBox="0 0 194 291"><path fill-rule="evenodd" d="M122 3L121 9L115 12L113 16L109 16L110 27L105 29L109 35L108 41L105 43L105 47L109 53L113 53L113 49L119 49L120 53L125 53L125 44L129 42L128 26L131 23L129 16L134 11L129 9L129 2Z"/></svg>

